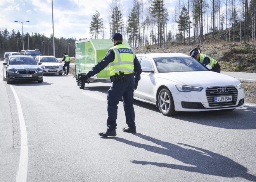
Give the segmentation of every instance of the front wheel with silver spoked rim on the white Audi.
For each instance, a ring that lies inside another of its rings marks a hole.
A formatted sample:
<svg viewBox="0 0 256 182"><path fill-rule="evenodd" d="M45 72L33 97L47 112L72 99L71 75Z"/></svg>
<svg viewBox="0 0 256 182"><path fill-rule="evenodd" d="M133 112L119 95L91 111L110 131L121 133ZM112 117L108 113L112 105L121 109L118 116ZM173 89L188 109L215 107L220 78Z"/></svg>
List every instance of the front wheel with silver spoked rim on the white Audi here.
<svg viewBox="0 0 256 182"><path fill-rule="evenodd" d="M158 94L158 108L164 116L173 116L176 114L173 102L173 96L167 88L163 88Z"/></svg>

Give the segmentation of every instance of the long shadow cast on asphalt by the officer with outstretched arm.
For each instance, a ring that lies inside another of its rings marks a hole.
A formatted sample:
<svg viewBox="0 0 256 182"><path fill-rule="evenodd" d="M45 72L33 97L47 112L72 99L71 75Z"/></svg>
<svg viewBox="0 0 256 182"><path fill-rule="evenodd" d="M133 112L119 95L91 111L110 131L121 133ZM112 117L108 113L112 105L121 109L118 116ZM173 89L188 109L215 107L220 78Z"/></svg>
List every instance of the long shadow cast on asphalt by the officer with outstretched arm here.
<svg viewBox="0 0 256 182"><path fill-rule="evenodd" d="M148 162L148 161L138 161L132 160L131 163L141 164L141 165L154 165L158 167L166 167L171 169L179 169L188 172L196 172L208 175L215 175L220 177L240 177L243 179L256 181L256 176L247 173L247 168L235 162L234 160L214 153L212 151L202 149L196 146L187 145L184 143L172 144L169 142L161 141L150 136L146 136L140 133L134 134L142 139L155 143L159 146L146 145L142 143L137 143L124 138L112 137L116 141L137 147L143 148L144 150L166 155L180 162L188 165L177 165L170 163L158 163L158 162ZM168 158L167 158L168 159Z"/></svg>

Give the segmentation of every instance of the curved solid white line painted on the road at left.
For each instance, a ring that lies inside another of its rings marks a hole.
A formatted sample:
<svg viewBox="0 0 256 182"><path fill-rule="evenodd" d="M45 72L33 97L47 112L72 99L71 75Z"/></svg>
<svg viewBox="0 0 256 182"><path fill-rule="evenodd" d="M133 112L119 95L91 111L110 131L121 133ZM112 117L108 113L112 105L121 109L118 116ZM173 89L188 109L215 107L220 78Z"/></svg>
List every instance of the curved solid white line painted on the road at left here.
<svg viewBox="0 0 256 182"><path fill-rule="evenodd" d="M21 103L19 102L19 97L16 94L12 85L10 85L12 92L14 94L18 114L19 114L19 125L21 128L21 155L19 157L19 171L16 177L16 182L26 182L27 180L27 172L28 172L28 137L26 124L24 120L24 116L21 109Z"/></svg>

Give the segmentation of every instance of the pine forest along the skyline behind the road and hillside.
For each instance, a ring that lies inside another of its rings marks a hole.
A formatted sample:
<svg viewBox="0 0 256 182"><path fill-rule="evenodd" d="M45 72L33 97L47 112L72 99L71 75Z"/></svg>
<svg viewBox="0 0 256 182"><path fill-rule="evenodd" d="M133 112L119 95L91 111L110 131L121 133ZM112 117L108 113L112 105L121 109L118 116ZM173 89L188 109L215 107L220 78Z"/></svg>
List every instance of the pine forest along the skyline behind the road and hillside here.
<svg viewBox="0 0 256 182"><path fill-rule="evenodd" d="M98 11L92 16L90 38L110 38L114 32L120 32L131 47L160 48L172 42L203 45L256 39L256 0L181 0L173 12L168 11L164 0L132 0L129 7L123 7L121 0L112 0L107 12L105 19ZM171 29L167 27L169 20L174 22ZM39 49L44 55L53 54L52 35L27 32L23 38L25 50ZM87 38L79 40L83 39ZM75 41L78 40L73 37L55 37L55 56L60 58L69 51L69 56L74 57ZM21 50L21 32L0 29L0 57L5 51Z"/></svg>

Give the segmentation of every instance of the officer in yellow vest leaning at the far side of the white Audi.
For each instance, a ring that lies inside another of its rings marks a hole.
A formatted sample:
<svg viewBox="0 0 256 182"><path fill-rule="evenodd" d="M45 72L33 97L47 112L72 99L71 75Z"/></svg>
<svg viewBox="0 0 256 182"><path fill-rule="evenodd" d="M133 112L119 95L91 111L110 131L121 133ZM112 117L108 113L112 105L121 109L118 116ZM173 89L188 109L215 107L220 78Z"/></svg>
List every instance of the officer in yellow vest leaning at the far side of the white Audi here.
<svg viewBox="0 0 256 182"><path fill-rule="evenodd" d="M220 73L220 64L210 56L207 56L206 54L198 53L197 51L193 51L191 56L195 58L197 61L199 61L200 63L202 63L204 66L206 65L211 66L212 71Z"/></svg>

